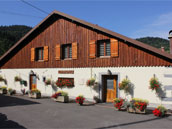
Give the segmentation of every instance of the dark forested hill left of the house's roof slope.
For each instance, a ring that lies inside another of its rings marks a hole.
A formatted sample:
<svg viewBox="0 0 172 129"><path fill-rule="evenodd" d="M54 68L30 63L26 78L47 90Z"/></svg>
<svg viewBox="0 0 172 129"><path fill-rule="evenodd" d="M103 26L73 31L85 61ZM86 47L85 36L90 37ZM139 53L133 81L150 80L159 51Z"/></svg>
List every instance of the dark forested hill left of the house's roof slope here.
<svg viewBox="0 0 172 129"><path fill-rule="evenodd" d="M0 26L0 56L31 29L24 25Z"/></svg>

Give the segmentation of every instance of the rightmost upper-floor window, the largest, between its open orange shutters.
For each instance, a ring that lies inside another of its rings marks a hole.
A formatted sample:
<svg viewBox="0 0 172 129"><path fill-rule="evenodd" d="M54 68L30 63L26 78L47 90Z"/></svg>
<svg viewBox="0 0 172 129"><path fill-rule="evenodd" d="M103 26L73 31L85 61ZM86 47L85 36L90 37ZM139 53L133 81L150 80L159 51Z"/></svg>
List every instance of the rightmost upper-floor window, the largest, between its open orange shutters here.
<svg viewBox="0 0 172 129"><path fill-rule="evenodd" d="M97 55L98 57L111 55L109 40L100 40L97 42Z"/></svg>

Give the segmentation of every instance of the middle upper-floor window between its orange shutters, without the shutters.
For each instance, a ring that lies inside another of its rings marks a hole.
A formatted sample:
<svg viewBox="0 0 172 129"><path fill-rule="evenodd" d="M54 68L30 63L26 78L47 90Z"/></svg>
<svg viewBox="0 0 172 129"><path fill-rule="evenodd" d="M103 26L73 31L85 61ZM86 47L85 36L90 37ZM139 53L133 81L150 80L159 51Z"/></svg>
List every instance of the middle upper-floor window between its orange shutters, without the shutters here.
<svg viewBox="0 0 172 129"><path fill-rule="evenodd" d="M62 59L72 58L72 45L65 44L62 45Z"/></svg>

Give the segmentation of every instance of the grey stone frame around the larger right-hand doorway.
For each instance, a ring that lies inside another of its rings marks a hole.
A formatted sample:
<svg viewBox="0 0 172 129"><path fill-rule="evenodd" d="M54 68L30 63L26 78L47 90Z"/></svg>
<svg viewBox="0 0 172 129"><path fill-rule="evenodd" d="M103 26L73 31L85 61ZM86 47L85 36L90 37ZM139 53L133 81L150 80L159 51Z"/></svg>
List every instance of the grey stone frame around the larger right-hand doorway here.
<svg viewBox="0 0 172 129"><path fill-rule="evenodd" d="M109 74L107 72L101 72L99 73L99 98L102 102L106 102L106 100L103 100L103 93L104 93L104 89L103 89L103 76L108 76ZM117 98L119 98L120 96L120 92L119 92L119 88L118 88L118 84L119 84L119 81L120 81L120 73L119 72L112 72L110 74L111 76L117 76L117 86L116 86L116 89L117 89Z"/></svg>

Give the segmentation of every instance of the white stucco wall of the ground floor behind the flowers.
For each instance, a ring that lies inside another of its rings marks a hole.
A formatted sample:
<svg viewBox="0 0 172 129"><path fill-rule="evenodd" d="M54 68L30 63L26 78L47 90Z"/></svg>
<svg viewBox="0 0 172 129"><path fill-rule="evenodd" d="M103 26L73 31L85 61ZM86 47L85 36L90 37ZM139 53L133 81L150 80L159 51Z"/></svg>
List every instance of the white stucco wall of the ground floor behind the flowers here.
<svg viewBox="0 0 172 129"><path fill-rule="evenodd" d="M40 80L37 80L37 88L43 95L51 96L55 90L50 85L46 86L42 77L51 78L56 81L58 77L73 77L75 80L75 87L63 88L63 91L67 91L69 96L75 97L79 94L83 94L87 99L91 100L94 95L99 95L98 91L86 86L86 81L92 77L96 78L96 81L101 81L101 75L107 74L110 70L112 74L118 75L118 83L121 82L126 76L134 85L134 97L149 100L150 103L164 103L172 104L172 102L160 101L154 91L149 89L149 80L155 74L159 81L162 83L162 87L165 85L172 85L172 78L165 77L165 75L172 75L171 67L108 67L108 68L47 68L47 69L1 69L0 75L7 79L7 87L14 88L20 92L21 88L29 89L29 73L33 70L39 76ZM74 70L74 74L58 74L58 70ZM19 82L14 82L14 77L19 75L23 80L26 80L27 87L21 86ZM0 86L4 86L3 82L0 82ZM61 90L58 88L57 90ZM166 91L167 97L172 97L171 91ZM119 91L118 97L125 97L123 91ZM129 99L130 96L127 96Z"/></svg>

